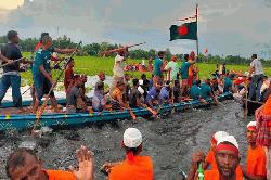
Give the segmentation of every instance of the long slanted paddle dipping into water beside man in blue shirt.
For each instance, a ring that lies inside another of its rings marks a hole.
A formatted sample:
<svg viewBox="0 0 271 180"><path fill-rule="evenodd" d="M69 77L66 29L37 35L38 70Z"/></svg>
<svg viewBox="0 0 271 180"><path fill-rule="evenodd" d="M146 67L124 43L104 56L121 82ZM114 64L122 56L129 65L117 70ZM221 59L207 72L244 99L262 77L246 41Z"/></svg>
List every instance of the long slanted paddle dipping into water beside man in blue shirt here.
<svg viewBox="0 0 271 180"><path fill-rule="evenodd" d="M48 95L46 97L46 100L43 101L43 104L41 105L40 110L37 111L37 113L36 113L36 118L37 118L37 120L35 121L35 124L34 124L34 126L33 126L31 132L35 131L37 125L38 125L39 121L40 121L40 117L41 117L41 115L43 114L43 112L44 112L44 110L46 110L46 106L47 106L47 104L48 104L50 93L53 91L54 87L55 87L55 86L57 85L57 82L60 81L62 74L64 73L64 70L65 70L66 67L67 67L67 64L68 64L68 63L70 62L70 60L74 57L74 55L76 54L77 49L79 48L79 46L80 46L81 43L82 43L82 42L80 41L80 42L77 44L76 50L70 54L68 61L64 64L64 68L61 70L60 75L57 76L55 83L52 85L52 87L51 87L51 89L50 89ZM64 59L63 59L62 61L64 61Z"/></svg>

